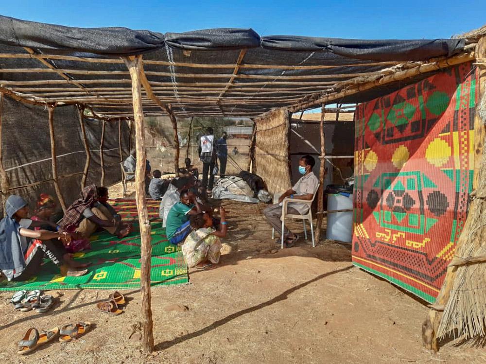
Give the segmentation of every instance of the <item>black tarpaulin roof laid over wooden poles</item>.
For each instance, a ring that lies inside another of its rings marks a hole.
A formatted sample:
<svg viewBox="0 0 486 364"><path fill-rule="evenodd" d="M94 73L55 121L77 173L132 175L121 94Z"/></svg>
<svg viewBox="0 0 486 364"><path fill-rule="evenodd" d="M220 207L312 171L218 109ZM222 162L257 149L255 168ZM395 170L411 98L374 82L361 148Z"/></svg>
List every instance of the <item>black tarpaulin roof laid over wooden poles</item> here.
<svg viewBox="0 0 486 364"><path fill-rule="evenodd" d="M465 46L465 39L260 37L252 29L164 35L0 16L0 85L26 99L83 103L101 115L131 116L131 81L120 57L143 54L154 93L176 115L258 117L399 63L451 57ZM341 101L366 101L404 85L398 82ZM143 110L146 115L164 114L147 97Z"/></svg>

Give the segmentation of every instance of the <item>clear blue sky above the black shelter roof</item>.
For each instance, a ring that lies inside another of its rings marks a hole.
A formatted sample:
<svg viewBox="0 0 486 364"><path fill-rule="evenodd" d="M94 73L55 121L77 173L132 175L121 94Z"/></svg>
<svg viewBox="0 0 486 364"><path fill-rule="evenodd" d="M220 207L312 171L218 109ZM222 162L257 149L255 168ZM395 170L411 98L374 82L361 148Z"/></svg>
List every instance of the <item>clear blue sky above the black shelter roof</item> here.
<svg viewBox="0 0 486 364"><path fill-rule="evenodd" d="M260 35L449 38L486 23L486 0L3 0L0 14L68 26L124 26L162 33L253 28Z"/></svg>

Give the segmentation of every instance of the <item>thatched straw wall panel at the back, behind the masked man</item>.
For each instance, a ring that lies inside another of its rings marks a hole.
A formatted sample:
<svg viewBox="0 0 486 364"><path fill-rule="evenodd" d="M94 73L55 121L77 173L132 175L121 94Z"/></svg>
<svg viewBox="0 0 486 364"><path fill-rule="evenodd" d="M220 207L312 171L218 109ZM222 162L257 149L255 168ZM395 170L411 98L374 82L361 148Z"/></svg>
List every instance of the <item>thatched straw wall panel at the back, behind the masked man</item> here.
<svg viewBox="0 0 486 364"><path fill-rule="evenodd" d="M283 192L291 187L289 173L290 116L279 109L264 119L255 121L254 173L266 182L270 193Z"/></svg>

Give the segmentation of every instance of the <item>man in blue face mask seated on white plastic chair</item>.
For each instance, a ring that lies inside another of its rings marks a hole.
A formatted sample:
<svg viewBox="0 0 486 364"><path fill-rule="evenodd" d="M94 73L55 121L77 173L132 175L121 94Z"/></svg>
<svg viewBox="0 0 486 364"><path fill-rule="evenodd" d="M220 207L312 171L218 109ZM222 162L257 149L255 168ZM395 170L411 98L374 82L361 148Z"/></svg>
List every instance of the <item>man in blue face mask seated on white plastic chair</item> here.
<svg viewBox="0 0 486 364"><path fill-rule="evenodd" d="M278 204L271 205L263 210L263 214L268 223L275 228L276 231L281 231L282 222L280 216L282 215L282 201L285 197L295 198L299 200L312 200L312 197L317 191L319 179L312 172L315 160L312 156L302 156L299 160L299 173L302 177L297 181L294 187L285 191L278 199ZM287 213L295 215L303 215L309 211L309 206L298 202L290 202L287 205ZM294 245L298 239L298 235L291 232L286 226L284 229L284 242L287 247Z"/></svg>

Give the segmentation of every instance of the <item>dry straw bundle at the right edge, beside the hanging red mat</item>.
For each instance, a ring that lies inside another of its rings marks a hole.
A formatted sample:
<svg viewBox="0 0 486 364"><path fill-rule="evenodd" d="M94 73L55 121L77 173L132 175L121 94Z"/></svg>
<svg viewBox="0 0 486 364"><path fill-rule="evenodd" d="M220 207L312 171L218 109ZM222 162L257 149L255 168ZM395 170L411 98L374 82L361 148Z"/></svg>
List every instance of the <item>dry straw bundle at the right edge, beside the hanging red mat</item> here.
<svg viewBox="0 0 486 364"><path fill-rule="evenodd" d="M486 93L477 114L486 124ZM486 145L485 145L486 146ZM469 216L449 269L454 274L437 337L457 333L464 339L486 335L486 147L483 147L478 187L471 193Z"/></svg>

